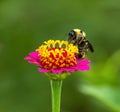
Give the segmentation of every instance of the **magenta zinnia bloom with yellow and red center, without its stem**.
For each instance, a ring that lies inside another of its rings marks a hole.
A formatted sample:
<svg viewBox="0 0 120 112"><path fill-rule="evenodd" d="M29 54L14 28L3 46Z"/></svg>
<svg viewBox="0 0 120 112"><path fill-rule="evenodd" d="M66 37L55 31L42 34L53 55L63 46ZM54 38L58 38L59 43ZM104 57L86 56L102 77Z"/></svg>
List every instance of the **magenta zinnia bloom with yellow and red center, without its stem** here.
<svg viewBox="0 0 120 112"><path fill-rule="evenodd" d="M48 40L36 51L25 57L29 63L38 66L39 72L61 74L65 72L89 70L89 60L76 58L77 46L67 41Z"/></svg>

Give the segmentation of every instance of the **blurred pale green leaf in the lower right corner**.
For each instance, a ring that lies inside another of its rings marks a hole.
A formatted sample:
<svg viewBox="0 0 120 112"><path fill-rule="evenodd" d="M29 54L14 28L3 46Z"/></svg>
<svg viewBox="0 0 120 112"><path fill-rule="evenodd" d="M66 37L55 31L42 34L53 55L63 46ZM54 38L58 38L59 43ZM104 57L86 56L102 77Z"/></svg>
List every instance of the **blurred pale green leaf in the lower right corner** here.
<svg viewBox="0 0 120 112"><path fill-rule="evenodd" d="M120 112L120 89L110 86L83 85L79 90L108 106L112 112Z"/></svg>

